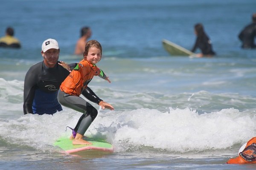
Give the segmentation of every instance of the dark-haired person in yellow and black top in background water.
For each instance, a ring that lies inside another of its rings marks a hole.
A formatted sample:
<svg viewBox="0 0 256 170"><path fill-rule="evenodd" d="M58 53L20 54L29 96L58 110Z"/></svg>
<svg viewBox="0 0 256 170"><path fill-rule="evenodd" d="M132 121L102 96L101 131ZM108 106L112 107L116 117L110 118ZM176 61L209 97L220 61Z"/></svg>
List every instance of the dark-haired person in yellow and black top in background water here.
<svg viewBox="0 0 256 170"><path fill-rule="evenodd" d="M6 36L0 38L0 47L5 48L20 48L20 41L13 37L14 30L11 27L6 29Z"/></svg>

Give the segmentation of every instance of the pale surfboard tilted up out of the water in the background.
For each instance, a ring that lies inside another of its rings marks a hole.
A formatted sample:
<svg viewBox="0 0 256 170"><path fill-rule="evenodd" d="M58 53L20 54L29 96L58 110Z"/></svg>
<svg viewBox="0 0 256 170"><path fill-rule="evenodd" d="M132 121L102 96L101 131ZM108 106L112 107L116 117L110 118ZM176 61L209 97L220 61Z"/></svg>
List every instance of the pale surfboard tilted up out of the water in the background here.
<svg viewBox="0 0 256 170"><path fill-rule="evenodd" d="M180 45L177 45L169 40L162 40L163 48L173 56L193 56L196 57L196 54L187 50L186 48L181 47Z"/></svg>

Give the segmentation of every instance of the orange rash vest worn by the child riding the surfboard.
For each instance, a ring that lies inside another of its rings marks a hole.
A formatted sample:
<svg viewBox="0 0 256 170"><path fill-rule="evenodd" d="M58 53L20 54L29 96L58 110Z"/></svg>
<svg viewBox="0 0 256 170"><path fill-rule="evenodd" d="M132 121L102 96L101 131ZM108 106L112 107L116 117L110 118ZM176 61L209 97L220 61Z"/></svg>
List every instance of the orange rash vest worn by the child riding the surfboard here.
<svg viewBox="0 0 256 170"><path fill-rule="evenodd" d="M73 96L80 96L83 88L87 87L88 83L93 79L93 76L101 74L101 69L85 59L81 60L78 65L79 69L72 70L60 86L61 91Z"/></svg>

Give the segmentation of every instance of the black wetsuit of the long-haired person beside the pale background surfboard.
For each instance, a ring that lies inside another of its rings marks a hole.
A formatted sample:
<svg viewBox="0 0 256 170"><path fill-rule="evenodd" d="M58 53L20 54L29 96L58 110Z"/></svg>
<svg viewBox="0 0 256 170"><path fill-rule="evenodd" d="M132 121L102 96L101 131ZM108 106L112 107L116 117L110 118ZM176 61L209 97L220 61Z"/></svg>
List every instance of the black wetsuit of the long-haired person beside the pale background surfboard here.
<svg viewBox="0 0 256 170"><path fill-rule="evenodd" d="M207 37L207 35L197 37L195 45L191 51L195 52L197 48L200 48L204 55L215 55L215 52L212 51L211 40Z"/></svg>

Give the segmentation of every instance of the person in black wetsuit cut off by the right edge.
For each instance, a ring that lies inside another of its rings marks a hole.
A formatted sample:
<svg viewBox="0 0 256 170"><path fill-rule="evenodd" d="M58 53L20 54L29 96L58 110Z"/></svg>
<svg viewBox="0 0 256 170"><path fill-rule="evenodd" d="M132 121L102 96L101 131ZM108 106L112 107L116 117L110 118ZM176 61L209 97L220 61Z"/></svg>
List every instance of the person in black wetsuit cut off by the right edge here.
<svg viewBox="0 0 256 170"><path fill-rule="evenodd" d="M239 39L242 41L242 48L256 48L254 39L256 37L256 13L252 17L253 23L244 27L239 34Z"/></svg>

